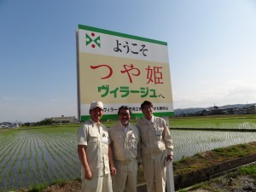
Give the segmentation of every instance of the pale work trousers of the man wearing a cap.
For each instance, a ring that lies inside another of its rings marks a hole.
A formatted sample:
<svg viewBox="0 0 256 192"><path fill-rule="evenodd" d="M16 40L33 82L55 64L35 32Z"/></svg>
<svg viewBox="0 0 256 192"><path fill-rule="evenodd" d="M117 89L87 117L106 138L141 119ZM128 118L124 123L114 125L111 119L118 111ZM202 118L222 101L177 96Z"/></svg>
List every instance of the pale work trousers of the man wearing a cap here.
<svg viewBox="0 0 256 192"><path fill-rule="evenodd" d="M110 174L92 177L91 180L82 176L82 192L113 192Z"/></svg>

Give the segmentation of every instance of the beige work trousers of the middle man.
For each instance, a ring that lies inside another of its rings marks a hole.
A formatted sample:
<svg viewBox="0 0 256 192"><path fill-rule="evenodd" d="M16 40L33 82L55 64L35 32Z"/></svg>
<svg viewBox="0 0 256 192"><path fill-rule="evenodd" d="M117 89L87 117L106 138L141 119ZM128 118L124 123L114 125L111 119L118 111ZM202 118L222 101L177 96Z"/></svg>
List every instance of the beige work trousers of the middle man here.
<svg viewBox="0 0 256 192"><path fill-rule="evenodd" d="M137 160L125 164L114 160L116 175L112 177L113 192L137 192Z"/></svg>

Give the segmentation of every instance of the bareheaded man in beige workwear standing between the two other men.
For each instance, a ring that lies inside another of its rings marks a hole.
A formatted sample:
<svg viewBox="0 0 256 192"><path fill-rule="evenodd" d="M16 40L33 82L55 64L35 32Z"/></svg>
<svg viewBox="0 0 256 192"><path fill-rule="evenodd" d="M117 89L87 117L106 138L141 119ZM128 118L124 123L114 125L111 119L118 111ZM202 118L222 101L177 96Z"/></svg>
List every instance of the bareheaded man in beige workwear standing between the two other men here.
<svg viewBox="0 0 256 192"><path fill-rule="evenodd" d="M137 158L140 161L139 132L129 123L131 109L121 106L118 111L119 123L109 129L113 149L113 163L116 175L113 192L137 192Z"/></svg>

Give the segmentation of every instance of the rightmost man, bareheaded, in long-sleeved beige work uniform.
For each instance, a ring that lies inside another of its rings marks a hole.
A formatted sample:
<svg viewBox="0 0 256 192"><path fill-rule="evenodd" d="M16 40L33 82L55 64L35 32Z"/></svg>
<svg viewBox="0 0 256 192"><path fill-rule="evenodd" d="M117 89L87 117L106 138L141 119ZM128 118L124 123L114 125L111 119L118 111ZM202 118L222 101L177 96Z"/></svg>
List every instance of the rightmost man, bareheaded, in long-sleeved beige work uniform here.
<svg viewBox="0 0 256 192"><path fill-rule="evenodd" d="M144 118L137 121L141 136L143 172L148 192L166 191L166 166L173 159L173 145L165 119L153 115L153 104L141 105Z"/></svg>

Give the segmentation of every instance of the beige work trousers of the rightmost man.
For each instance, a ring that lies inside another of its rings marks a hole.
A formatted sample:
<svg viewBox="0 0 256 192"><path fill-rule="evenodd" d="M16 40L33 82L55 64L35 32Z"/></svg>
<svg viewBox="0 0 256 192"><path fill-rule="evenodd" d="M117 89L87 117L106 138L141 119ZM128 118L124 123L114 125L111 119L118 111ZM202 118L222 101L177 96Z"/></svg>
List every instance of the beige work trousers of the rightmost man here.
<svg viewBox="0 0 256 192"><path fill-rule="evenodd" d="M151 155L142 155L143 172L148 192L166 191L166 167L163 166L163 155L164 153L160 153L154 158Z"/></svg>

